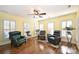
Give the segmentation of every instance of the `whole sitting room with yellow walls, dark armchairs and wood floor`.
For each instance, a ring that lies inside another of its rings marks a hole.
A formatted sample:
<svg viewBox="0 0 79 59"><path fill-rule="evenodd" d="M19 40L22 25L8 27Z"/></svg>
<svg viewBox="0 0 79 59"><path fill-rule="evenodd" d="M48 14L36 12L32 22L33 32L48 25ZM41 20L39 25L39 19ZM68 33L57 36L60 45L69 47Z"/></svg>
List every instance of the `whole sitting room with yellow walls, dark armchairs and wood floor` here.
<svg viewBox="0 0 79 59"><path fill-rule="evenodd" d="M0 54L79 54L79 5L0 5Z"/></svg>

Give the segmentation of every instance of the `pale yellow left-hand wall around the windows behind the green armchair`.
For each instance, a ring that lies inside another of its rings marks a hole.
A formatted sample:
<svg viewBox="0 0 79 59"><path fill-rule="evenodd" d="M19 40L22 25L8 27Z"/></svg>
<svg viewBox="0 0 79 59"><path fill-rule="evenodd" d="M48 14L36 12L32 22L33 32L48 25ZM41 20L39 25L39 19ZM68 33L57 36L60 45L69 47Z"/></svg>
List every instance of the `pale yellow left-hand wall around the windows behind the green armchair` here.
<svg viewBox="0 0 79 59"><path fill-rule="evenodd" d="M8 14L5 12L0 12L0 42L2 42L3 36L3 20L15 20L16 21L16 31L21 31L22 35L24 34L24 23L28 23L30 25L30 31L32 32L32 36L34 35L34 23L33 20L28 18L23 18L20 16Z"/></svg>

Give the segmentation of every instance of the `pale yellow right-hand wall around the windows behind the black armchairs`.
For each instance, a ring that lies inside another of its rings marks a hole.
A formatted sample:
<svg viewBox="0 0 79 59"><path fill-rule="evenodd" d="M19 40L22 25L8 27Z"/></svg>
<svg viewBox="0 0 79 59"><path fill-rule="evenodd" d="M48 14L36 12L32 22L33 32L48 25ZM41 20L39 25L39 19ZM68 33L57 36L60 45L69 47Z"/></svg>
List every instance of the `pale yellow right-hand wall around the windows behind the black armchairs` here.
<svg viewBox="0 0 79 59"><path fill-rule="evenodd" d="M72 20L73 27L75 28L76 27L76 14L77 14L76 12L75 13L70 13L70 14L62 15L62 16L59 16L59 17L56 17L56 18L49 18L49 19L45 19L45 20L40 20L38 22L39 22L39 24L40 23L44 24L44 29L46 30L47 33L48 33L47 25L48 25L49 22L54 23L54 30L61 30L61 22L62 21ZM72 42L76 43L76 32L75 32L75 30L73 31L73 34L74 35L73 35Z"/></svg>

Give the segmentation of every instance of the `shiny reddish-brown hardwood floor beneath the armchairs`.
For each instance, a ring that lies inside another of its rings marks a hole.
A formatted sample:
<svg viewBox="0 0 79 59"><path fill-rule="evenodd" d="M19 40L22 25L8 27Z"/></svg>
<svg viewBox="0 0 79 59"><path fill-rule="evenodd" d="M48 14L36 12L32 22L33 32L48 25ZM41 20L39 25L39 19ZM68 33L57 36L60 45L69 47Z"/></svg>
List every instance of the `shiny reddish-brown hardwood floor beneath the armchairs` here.
<svg viewBox="0 0 79 59"><path fill-rule="evenodd" d="M67 47L66 42L61 42L61 45L54 47L46 41L41 41L36 38L30 38L18 48L11 47L11 44L0 46L0 54L77 54L76 46L72 44Z"/></svg>

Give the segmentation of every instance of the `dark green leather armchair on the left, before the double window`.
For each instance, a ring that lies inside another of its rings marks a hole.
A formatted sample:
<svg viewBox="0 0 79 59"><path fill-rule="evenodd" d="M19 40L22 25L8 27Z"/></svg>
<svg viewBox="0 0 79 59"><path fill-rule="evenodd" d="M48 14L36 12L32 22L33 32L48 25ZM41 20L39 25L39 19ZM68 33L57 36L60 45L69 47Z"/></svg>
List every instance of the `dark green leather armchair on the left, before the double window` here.
<svg viewBox="0 0 79 59"><path fill-rule="evenodd" d="M9 39L11 40L11 45L14 47L18 47L24 42L26 43L26 38L21 36L21 32L19 31L9 32Z"/></svg>

